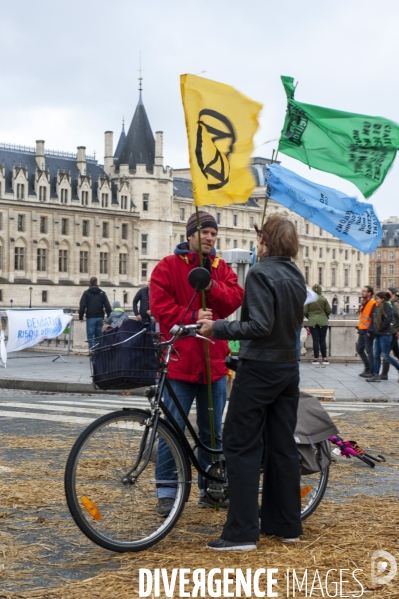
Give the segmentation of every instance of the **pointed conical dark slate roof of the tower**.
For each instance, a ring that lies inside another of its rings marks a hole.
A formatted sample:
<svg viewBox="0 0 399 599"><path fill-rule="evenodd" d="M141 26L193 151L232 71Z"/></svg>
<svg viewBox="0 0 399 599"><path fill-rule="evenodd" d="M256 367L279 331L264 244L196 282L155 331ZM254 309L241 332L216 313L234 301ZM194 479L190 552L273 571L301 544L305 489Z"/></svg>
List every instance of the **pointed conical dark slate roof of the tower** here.
<svg viewBox="0 0 399 599"><path fill-rule="evenodd" d="M147 171L152 171L154 168L154 159L155 139L140 92L136 111L120 155L115 160L115 166L119 170L121 164L128 164L129 170L135 170L137 164L145 164Z"/></svg>

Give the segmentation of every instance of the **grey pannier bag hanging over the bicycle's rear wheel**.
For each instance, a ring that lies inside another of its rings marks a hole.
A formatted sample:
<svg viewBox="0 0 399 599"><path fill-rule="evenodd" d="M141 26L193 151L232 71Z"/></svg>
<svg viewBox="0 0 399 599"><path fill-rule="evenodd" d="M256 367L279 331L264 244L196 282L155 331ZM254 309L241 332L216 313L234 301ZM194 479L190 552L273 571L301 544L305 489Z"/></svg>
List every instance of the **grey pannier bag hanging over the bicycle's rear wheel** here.
<svg viewBox="0 0 399 599"><path fill-rule="evenodd" d="M295 441L302 474L320 472L331 463L327 439L337 434L337 427L317 397L301 391Z"/></svg>

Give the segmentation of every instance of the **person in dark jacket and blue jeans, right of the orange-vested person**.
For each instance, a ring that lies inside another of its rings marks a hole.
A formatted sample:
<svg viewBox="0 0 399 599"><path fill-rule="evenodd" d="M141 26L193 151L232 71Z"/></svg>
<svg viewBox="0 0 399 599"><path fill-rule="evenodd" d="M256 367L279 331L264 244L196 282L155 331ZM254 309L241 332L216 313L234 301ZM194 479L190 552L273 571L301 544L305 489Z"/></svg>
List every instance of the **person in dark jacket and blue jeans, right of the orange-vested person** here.
<svg viewBox="0 0 399 599"><path fill-rule="evenodd" d="M376 306L372 312L371 325L367 335L374 336L374 374L366 379L368 383L379 383L381 356L385 362L389 362L399 371L399 362L389 355L391 351L392 335L392 306L389 302L390 293L380 291L375 296Z"/></svg>

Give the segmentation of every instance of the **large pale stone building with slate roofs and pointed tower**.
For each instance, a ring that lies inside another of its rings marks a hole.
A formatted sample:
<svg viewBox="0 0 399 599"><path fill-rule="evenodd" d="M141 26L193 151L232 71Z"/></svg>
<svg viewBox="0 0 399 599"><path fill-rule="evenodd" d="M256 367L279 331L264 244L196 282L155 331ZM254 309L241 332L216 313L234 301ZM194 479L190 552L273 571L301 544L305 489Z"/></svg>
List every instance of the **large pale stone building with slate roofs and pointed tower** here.
<svg viewBox="0 0 399 599"><path fill-rule="evenodd" d="M112 301L131 307L157 262L186 239L194 211L189 169L163 164L163 134L155 137L141 91L130 127L114 151L105 133L104 165L86 156L0 144L0 309L75 308L96 275ZM252 249L253 224L264 206L265 158L253 159L257 187L246 204L205 207L219 223L217 249ZM272 200L297 227L298 266L320 283L340 312L357 307L368 279L368 256Z"/></svg>

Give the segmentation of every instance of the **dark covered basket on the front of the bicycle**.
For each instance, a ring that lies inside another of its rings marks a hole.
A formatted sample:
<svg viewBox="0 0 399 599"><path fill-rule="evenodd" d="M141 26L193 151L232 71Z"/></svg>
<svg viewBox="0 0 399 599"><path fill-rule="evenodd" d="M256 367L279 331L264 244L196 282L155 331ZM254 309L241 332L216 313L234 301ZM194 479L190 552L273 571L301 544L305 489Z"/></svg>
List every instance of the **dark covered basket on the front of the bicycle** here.
<svg viewBox="0 0 399 599"><path fill-rule="evenodd" d="M132 389L154 385L159 352L153 337L140 322L126 320L118 329L94 339L91 369L98 389Z"/></svg>

